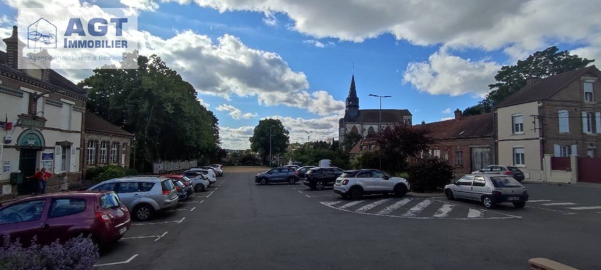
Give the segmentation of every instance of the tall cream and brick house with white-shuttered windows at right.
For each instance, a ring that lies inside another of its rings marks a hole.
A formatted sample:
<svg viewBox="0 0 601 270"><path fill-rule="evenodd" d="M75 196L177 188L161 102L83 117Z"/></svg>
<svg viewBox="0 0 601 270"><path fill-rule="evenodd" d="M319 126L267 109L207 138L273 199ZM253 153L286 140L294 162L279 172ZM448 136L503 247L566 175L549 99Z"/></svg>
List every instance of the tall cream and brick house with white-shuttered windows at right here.
<svg viewBox="0 0 601 270"><path fill-rule="evenodd" d="M498 163L546 181L545 155L599 157L601 72L579 68L529 83L495 107Z"/></svg>

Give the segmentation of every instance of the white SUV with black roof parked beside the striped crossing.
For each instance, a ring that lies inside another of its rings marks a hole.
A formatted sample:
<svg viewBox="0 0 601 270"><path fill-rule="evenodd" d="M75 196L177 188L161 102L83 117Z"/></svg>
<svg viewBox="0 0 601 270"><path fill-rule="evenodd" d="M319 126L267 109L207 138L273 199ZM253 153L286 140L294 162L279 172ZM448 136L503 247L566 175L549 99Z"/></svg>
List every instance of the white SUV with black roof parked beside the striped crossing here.
<svg viewBox="0 0 601 270"><path fill-rule="evenodd" d="M364 194L394 193L403 197L410 190L409 182L392 177L381 170L348 170L334 184L334 192L344 198L361 199Z"/></svg>

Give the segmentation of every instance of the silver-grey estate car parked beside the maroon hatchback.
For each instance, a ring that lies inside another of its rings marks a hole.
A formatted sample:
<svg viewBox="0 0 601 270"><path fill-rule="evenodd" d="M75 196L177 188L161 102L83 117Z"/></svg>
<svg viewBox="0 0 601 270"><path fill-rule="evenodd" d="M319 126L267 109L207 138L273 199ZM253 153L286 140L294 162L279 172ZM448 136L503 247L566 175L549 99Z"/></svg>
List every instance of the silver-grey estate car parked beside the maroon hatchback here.
<svg viewBox="0 0 601 270"><path fill-rule="evenodd" d="M132 209L132 217L139 221L150 220L156 211L176 208L179 200L171 179L156 175L115 178L88 190L115 191L127 209Z"/></svg>

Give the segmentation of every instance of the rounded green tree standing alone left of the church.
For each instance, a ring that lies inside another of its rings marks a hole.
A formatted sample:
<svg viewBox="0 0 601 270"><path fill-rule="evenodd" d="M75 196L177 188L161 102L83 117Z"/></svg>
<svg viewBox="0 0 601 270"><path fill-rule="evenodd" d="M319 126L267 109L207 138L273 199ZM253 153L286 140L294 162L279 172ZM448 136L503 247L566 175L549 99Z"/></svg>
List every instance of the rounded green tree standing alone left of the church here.
<svg viewBox="0 0 601 270"><path fill-rule="evenodd" d="M273 155L283 154L290 142L290 132L284 128L279 119L263 119L255 127L250 137L252 151L258 152L264 164L269 164L269 135L271 138L271 152Z"/></svg>

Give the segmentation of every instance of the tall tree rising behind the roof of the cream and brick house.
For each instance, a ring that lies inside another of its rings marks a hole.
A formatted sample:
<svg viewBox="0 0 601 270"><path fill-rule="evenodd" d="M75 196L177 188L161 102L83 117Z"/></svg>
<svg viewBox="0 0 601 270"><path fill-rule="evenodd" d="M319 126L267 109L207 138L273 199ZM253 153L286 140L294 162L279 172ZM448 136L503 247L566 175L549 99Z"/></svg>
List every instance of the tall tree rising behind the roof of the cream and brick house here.
<svg viewBox="0 0 601 270"><path fill-rule="evenodd" d="M484 102L494 105L509 97L526 83L586 67L594 61L594 59L589 60L578 57L578 55L570 55L567 50L561 52L558 50L555 46L548 47L533 53L525 60L517 61L516 65L503 66L495 75L498 83L489 85L489 88L493 90L486 95Z"/></svg>

